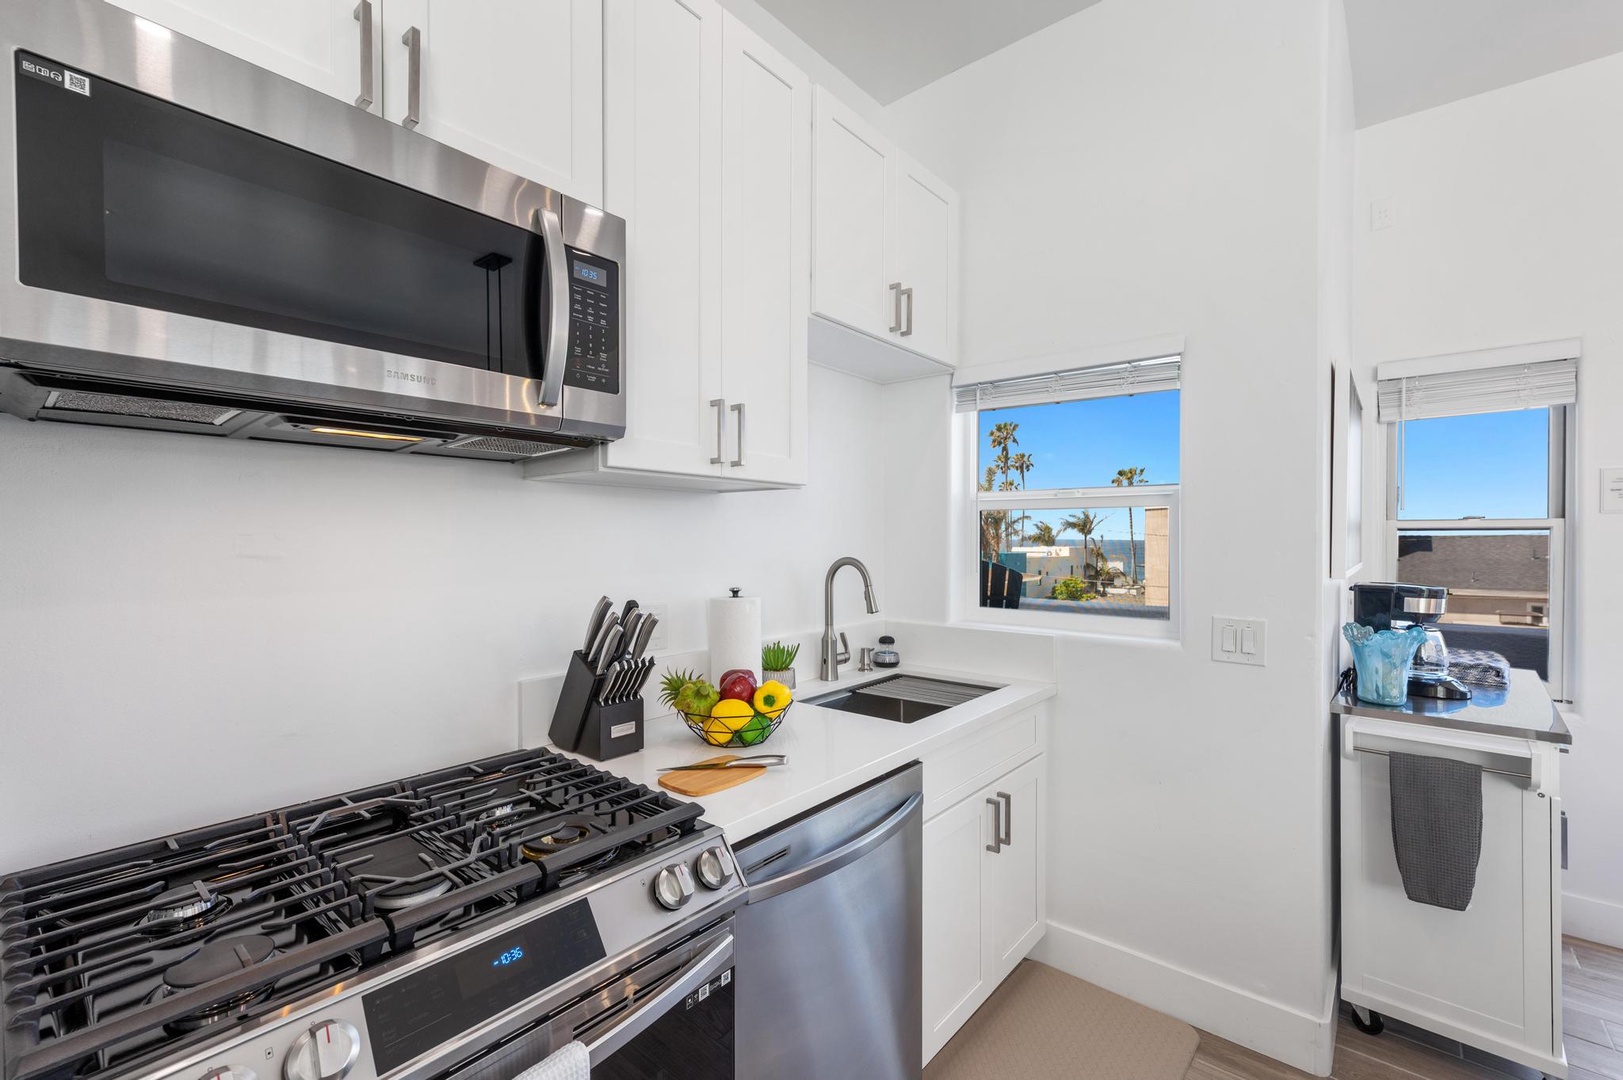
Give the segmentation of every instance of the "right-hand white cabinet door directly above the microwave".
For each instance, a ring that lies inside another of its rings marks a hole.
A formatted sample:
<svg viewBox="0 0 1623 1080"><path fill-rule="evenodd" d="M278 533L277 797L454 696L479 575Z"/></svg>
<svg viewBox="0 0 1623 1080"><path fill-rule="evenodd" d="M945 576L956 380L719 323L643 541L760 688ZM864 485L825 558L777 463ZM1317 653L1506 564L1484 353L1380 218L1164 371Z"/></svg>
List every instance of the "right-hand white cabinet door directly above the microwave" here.
<svg viewBox="0 0 1623 1080"><path fill-rule="evenodd" d="M390 0L386 10L385 115L407 120L404 37L415 28L419 132L602 205L602 0Z"/></svg>

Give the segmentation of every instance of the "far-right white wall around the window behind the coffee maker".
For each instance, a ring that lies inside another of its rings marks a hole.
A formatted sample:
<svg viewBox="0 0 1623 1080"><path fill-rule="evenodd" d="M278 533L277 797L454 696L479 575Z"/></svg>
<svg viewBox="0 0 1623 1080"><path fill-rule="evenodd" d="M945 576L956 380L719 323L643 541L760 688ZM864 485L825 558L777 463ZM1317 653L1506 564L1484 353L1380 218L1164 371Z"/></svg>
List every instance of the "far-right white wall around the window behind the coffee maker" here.
<svg viewBox="0 0 1623 1080"><path fill-rule="evenodd" d="M1623 466L1623 55L1358 132L1357 356L1383 361L1584 339L1576 499L1576 715L1566 931L1623 945L1623 515L1599 471ZM1371 232L1370 201L1396 200ZM1384 440L1373 458L1383 464ZM1383 516L1380 505L1371 516Z"/></svg>

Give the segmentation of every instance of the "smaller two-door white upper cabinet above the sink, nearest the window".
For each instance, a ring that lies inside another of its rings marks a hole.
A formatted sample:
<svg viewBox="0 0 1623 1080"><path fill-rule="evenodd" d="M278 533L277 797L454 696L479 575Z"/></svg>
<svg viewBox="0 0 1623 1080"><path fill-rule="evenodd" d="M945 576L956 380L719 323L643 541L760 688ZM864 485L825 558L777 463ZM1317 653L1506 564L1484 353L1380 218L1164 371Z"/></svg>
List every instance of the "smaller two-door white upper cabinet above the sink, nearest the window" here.
<svg viewBox="0 0 1623 1080"><path fill-rule="evenodd" d="M815 326L812 359L880 382L946 370L958 362L958 193L823 88L813 132L812 310L862 339Z"/></svg>

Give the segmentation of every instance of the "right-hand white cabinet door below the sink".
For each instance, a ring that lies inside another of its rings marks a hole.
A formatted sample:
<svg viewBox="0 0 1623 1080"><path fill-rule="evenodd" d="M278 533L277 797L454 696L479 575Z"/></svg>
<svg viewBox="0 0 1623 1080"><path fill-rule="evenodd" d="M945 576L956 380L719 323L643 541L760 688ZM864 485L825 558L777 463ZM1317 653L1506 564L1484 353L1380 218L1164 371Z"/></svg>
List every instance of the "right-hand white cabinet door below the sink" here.
<svg viewBox="0 0 1623 1080"><path fill-rule="evenodd" d="M1034 758L993 783L984 799L1001 807L1008 843L985 853L987 966L993 979L1008 974L1044 932L1042 784L1044 758ZM990 812L993 807L987 806Z"/></svg>

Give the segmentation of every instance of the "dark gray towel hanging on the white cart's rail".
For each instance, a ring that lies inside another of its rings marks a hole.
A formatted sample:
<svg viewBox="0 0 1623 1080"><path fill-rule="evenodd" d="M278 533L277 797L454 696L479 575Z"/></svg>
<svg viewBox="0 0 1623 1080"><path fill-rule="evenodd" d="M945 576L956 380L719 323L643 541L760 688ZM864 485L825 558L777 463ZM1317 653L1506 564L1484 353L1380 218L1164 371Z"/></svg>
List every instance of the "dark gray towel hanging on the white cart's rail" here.
<svg viewBox="0 0 1623 1080"><path fill-rule="evenodd" d="M1415 754L1389 754L1388 762L1404 895L1464 911L1482 858L1482 767Z"/></svg>

